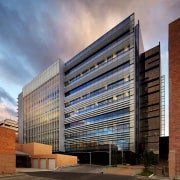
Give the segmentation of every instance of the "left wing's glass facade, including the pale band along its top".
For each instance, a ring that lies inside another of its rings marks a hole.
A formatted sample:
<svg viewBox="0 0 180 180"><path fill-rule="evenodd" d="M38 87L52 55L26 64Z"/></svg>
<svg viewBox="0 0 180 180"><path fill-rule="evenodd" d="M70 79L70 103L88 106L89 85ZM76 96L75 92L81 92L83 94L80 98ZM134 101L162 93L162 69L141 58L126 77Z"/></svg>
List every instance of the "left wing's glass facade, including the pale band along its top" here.
<svg viewBox="0 0 180 180"><path fill-rule="evenodd" d="M23 143L52 145L59 151L60 73L59 61L23 89Z"/></svg>

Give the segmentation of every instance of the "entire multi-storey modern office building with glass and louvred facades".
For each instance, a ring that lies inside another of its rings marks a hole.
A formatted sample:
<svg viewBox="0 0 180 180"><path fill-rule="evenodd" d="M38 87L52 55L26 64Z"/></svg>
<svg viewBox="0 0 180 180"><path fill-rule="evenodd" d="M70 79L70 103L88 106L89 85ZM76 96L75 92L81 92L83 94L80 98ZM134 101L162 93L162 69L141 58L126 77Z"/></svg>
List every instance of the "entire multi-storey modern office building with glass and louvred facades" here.
<svg viewBox="0 0 180 180"><path fill-rule="evenodd" d="M69 154L105 152L106 157L113 150L138 153L145 144L151 150L158 144L160 45L144 53L134 18L65 64L58 60L23 88L23 143L50 144L54 152Z"/></svg>

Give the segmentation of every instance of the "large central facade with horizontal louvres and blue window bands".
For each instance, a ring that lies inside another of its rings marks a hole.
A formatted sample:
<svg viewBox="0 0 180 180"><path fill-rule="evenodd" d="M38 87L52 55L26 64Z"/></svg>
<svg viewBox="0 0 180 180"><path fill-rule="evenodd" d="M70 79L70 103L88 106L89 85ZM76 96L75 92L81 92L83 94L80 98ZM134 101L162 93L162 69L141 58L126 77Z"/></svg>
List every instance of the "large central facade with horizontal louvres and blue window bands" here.
<svg viewBox="0 0 180 180"><path fill-rule="evenodd" d="M66 64L66 152L135 152L134 44L131 15Z"/></svg>

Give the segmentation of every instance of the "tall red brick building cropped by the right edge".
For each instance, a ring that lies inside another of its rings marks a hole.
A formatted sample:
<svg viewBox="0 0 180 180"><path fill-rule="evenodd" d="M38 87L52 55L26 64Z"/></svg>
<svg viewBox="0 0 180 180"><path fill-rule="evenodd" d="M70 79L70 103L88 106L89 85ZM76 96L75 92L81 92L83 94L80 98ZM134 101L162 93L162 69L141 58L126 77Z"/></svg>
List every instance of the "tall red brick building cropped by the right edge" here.
<svg viewBox="0 0 180 180"><path fill-rule="evenodd" d="M180 18L169 24L169 176L180 178Z"/></svg>

